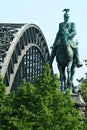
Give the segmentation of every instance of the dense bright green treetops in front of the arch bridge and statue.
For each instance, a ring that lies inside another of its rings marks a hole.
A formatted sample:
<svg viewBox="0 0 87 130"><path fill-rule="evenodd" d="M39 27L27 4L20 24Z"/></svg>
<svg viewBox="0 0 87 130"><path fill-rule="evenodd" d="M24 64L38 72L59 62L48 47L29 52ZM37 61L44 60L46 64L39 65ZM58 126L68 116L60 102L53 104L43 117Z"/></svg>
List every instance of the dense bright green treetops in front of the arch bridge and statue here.
<svg viewBox="0 0 87 130"><path fill-rule="evenodd" d="M6 95L0 79L0 130L82 130L79 111L69 94L59 90L49 64L34 84L22 81L17 93Z"/></svg>

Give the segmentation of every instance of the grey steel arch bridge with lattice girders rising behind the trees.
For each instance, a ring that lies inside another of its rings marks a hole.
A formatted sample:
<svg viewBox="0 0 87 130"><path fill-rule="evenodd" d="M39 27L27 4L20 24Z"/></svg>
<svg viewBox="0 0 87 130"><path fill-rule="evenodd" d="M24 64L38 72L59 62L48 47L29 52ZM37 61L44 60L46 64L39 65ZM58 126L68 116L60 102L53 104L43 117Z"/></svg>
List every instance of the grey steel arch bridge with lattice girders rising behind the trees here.
<svg viewBox="0 0 87 130"><path fill-rule="evenodd" d="M0 73L6 92L16 90L25 78L41 76L50 54L45 37L35 24L0 24Z"/></svg>

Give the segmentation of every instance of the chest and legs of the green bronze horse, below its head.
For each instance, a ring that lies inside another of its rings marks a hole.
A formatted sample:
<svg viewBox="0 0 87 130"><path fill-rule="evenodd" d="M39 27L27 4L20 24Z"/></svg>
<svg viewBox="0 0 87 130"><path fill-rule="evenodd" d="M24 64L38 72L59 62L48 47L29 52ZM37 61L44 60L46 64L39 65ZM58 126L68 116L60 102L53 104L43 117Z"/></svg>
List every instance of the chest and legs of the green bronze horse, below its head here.
<svg viewBox="0 0 87 130"><path fill-rule="evenodd" d="M73 50L67 42L60 43L56 47L56 61L58 64L61 91L70 88L73 89L73 76L75 73L75 61ZM67 70L66 70L67 69ZM66 75L67 71L67 75ZM67 77L67 80L66 80Z"/></svg>

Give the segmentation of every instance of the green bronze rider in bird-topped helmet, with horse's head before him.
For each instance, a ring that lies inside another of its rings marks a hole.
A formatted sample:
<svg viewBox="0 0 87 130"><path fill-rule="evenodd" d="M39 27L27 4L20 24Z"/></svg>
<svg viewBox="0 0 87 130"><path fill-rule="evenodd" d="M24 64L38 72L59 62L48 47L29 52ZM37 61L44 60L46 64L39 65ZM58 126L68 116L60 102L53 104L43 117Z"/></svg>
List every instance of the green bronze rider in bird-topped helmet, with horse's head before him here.
<svg viewBox="0 0 87 130"><path fill-rule="evenodd" d="M76 60L77 67L82 67L82 63L79 60L78 45L77 42L73 40L74 36L76 35L75 23L69 22L69 9L64 9L63 11L65 11L64 22L59 24L59 31L57 32L54 44L52 46L50 66L52 66L52 62L56 55L57 46L62 42L67 42L70 44L74 52L74 58Z"/></svg>

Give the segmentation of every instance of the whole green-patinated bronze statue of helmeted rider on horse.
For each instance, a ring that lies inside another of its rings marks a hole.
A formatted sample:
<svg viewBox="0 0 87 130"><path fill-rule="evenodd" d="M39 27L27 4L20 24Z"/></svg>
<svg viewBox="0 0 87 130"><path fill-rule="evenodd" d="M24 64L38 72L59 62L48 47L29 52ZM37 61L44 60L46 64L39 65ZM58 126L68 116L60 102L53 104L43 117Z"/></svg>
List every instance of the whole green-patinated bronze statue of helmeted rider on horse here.
<svg viewBox="0 0 87 130"><path fill-rule="evenodd" d="M74 40L76 35L75 23L69 22L70 9L64 9L64 22L59 24L59 30L51 47L50 67L56 57L61 90L73 89L73 77L75 67L82 67L79 60L78 42ZM66 74L67 72L67 74Z"/></svg>

